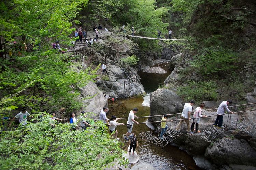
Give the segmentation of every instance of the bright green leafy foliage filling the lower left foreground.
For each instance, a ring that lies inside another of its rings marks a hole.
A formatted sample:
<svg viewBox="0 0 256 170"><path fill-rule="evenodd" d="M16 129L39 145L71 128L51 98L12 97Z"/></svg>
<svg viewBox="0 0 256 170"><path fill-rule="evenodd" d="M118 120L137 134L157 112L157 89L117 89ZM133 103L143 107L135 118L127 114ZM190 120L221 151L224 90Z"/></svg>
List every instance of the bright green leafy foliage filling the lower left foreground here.
<svg viewBox="0 0 256 170"><path fill-rule="evenodd" d="M108 128L101 121L84 131L73 131L73 124L68 123L55 123L56 127L52 128L49 125L50 116L44 114L46 116L40 119L34 118L38 123L28 123L14 131L1 132L2 169L94 170L105 169L114 160L119 165L127 164L127 160L122 158L120 146L123 144L110 139Z"/></svg>

